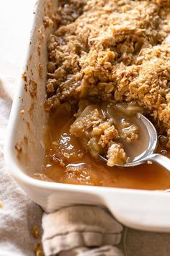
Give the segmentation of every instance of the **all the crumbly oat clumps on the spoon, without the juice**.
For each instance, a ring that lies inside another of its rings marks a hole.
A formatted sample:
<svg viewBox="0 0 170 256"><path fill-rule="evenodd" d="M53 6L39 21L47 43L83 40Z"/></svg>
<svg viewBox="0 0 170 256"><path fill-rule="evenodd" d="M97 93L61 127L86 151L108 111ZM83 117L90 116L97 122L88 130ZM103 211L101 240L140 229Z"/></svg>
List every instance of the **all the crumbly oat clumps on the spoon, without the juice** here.
<svg viewBox="0 0 170 256"><path fill-rule="evenodd" d="M115 125L120 127L120 131ZM138 140L138 128L134 124L122 119L122 123L114 119L108 119L102 114L99 105L89 105L73 122L70 128L71 134L81 138L81 144L94 158L100 155L107 155L108 166L115 163L123 164L128 157L117 139L125 139L127 142Z"/></svg>

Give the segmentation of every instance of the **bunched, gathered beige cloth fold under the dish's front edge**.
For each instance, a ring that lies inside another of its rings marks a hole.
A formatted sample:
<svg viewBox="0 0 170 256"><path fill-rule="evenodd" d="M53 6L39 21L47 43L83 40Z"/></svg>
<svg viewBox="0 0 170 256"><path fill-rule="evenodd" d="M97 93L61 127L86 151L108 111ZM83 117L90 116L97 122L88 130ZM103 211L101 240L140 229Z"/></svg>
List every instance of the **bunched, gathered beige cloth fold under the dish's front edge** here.
<svg viewBox="0 0 170 256"><path fill-rule="evenodd" d="M120 243L122 225L98 206L74 205L44 214L42 228L45 256L122 256L113 246Z"/></svg>

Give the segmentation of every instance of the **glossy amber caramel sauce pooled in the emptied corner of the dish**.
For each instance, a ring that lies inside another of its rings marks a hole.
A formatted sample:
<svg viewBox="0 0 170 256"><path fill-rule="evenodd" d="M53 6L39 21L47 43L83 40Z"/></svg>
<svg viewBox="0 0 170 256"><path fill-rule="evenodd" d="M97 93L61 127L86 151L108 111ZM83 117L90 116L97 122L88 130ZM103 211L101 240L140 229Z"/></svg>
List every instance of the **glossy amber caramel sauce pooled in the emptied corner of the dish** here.
<svg viewBox="0 0 170 256"><path fill-rule="evenodd" d="M91 158L69 132L74 117L66 108L52 114L45 127L43 174L55 182L132 189L169 189L170 172L156 164L109 167ZM170 156L163 148L158 153Z"/></svg>

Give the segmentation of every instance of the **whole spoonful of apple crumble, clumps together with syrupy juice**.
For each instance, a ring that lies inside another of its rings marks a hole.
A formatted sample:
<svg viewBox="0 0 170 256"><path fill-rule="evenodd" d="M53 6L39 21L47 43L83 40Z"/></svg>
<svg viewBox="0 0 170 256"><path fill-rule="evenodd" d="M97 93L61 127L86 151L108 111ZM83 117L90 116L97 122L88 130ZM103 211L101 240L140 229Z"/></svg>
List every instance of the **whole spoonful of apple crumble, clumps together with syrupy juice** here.
<svg viewBox="0 0 170 256"><path fill-rule="evenodd" d="M81 139L81 145L92 157L97 159L99 155L104 155L108 159L108 166L123 165L146 150L148 137L143 140L143 136L140 136L139 124L135 119L135 115L142 111L143 108L134 103L109 102L99 105L80 101L70 132ZM135 152L130 150L133 145L137 149Z"/></svg>

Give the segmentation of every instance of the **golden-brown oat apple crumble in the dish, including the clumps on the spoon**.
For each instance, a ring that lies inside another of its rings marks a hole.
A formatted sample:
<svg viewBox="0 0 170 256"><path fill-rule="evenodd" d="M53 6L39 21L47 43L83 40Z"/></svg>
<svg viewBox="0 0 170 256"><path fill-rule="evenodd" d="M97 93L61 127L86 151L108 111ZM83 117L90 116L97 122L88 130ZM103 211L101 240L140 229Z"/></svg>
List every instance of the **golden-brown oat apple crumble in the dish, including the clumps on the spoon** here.
<svg viewBox="0 0 170 256"><path fill-rule="evenodd" d="M170 148L170 1L64 0L53 19L45 110L64 106L70 135L108 166L129 161L121 140L138 140L138 112ZM55 161L66 166L73 155L62 150Z"/></svg>

